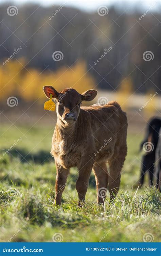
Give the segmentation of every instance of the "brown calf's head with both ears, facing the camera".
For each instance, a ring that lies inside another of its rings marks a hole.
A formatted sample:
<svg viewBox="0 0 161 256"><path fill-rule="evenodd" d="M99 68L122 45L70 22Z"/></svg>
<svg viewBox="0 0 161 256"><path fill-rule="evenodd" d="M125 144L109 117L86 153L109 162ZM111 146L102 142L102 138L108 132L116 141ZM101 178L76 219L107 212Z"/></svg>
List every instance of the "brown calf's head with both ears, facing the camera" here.
<svg viewBox="0 0 161 256"><path fill-rule="evenodd" d="M57 117L64 126L69 126L77 120L83 100L91 101L97 95L96 90L79 94L72 88L66 88L58 93L52 86L44 86L43 91L48 98L52 94L52 98L56 100Z"/></svg>

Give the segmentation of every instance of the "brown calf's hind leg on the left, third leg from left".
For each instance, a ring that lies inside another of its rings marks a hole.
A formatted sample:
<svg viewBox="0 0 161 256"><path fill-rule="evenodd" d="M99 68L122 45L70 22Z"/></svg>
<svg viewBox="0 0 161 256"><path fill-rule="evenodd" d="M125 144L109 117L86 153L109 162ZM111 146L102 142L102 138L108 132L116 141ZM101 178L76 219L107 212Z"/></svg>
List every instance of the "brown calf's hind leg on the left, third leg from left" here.
<svg viewBox="0 0 161 256"><path fill-rule="evenodd" d="M106 163L94 163L93 172L95 175L95 181L97 186L97 203L104 204L104 200L107 194L107 184L108 184L108 171Z"/></svg>

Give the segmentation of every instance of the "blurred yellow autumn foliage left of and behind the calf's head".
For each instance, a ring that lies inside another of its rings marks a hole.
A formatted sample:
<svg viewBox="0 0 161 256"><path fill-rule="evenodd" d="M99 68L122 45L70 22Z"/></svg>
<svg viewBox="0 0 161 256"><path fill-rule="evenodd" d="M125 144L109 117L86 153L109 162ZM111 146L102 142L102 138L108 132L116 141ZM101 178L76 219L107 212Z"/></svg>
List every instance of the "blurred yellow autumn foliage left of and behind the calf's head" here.
<svg viewBox="0 0 161 256"><path fill-rule="evenodd" d="M44 100L42 87L50 85L57 91L72 87L79 93L94 88L93 77L87 72L86 63L77 61L72 67L61 67L56 71L44 71L25 67L25 60L11 60L0 69L0 98L16 96L25 101Z"/></svg>

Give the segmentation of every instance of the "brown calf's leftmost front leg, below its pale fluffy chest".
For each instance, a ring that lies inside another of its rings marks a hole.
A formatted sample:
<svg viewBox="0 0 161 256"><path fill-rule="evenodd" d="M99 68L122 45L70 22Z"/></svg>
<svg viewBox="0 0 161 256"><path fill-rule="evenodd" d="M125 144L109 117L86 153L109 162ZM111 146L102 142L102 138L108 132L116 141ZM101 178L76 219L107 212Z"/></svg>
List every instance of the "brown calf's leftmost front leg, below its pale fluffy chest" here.
<svg viewBox="0 0 161 256"><path fill-rule="evenodd" d="M65 169L64 167L60 166L56 161L56 183L55 183L55 199L54 199L54 205L61 204L61 197L62 192L65 189L66 182L67 182L67 176L69 173L69 169Z"/></svg>

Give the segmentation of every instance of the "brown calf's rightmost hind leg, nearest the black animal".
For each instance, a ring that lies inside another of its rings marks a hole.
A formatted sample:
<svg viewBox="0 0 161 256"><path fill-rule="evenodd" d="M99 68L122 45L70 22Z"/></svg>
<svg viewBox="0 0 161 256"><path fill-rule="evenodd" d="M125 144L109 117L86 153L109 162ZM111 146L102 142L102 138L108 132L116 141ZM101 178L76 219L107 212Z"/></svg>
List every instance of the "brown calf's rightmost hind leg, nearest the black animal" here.
<svg viewBox="0 0 161 256"><path fill-rule="evenodd" d="M121 169L123 167L125 156L127 154L126 146L120 151L118 155L113 157L109 162L109 192L110 200L114 199L120 187Z"/></svg>

